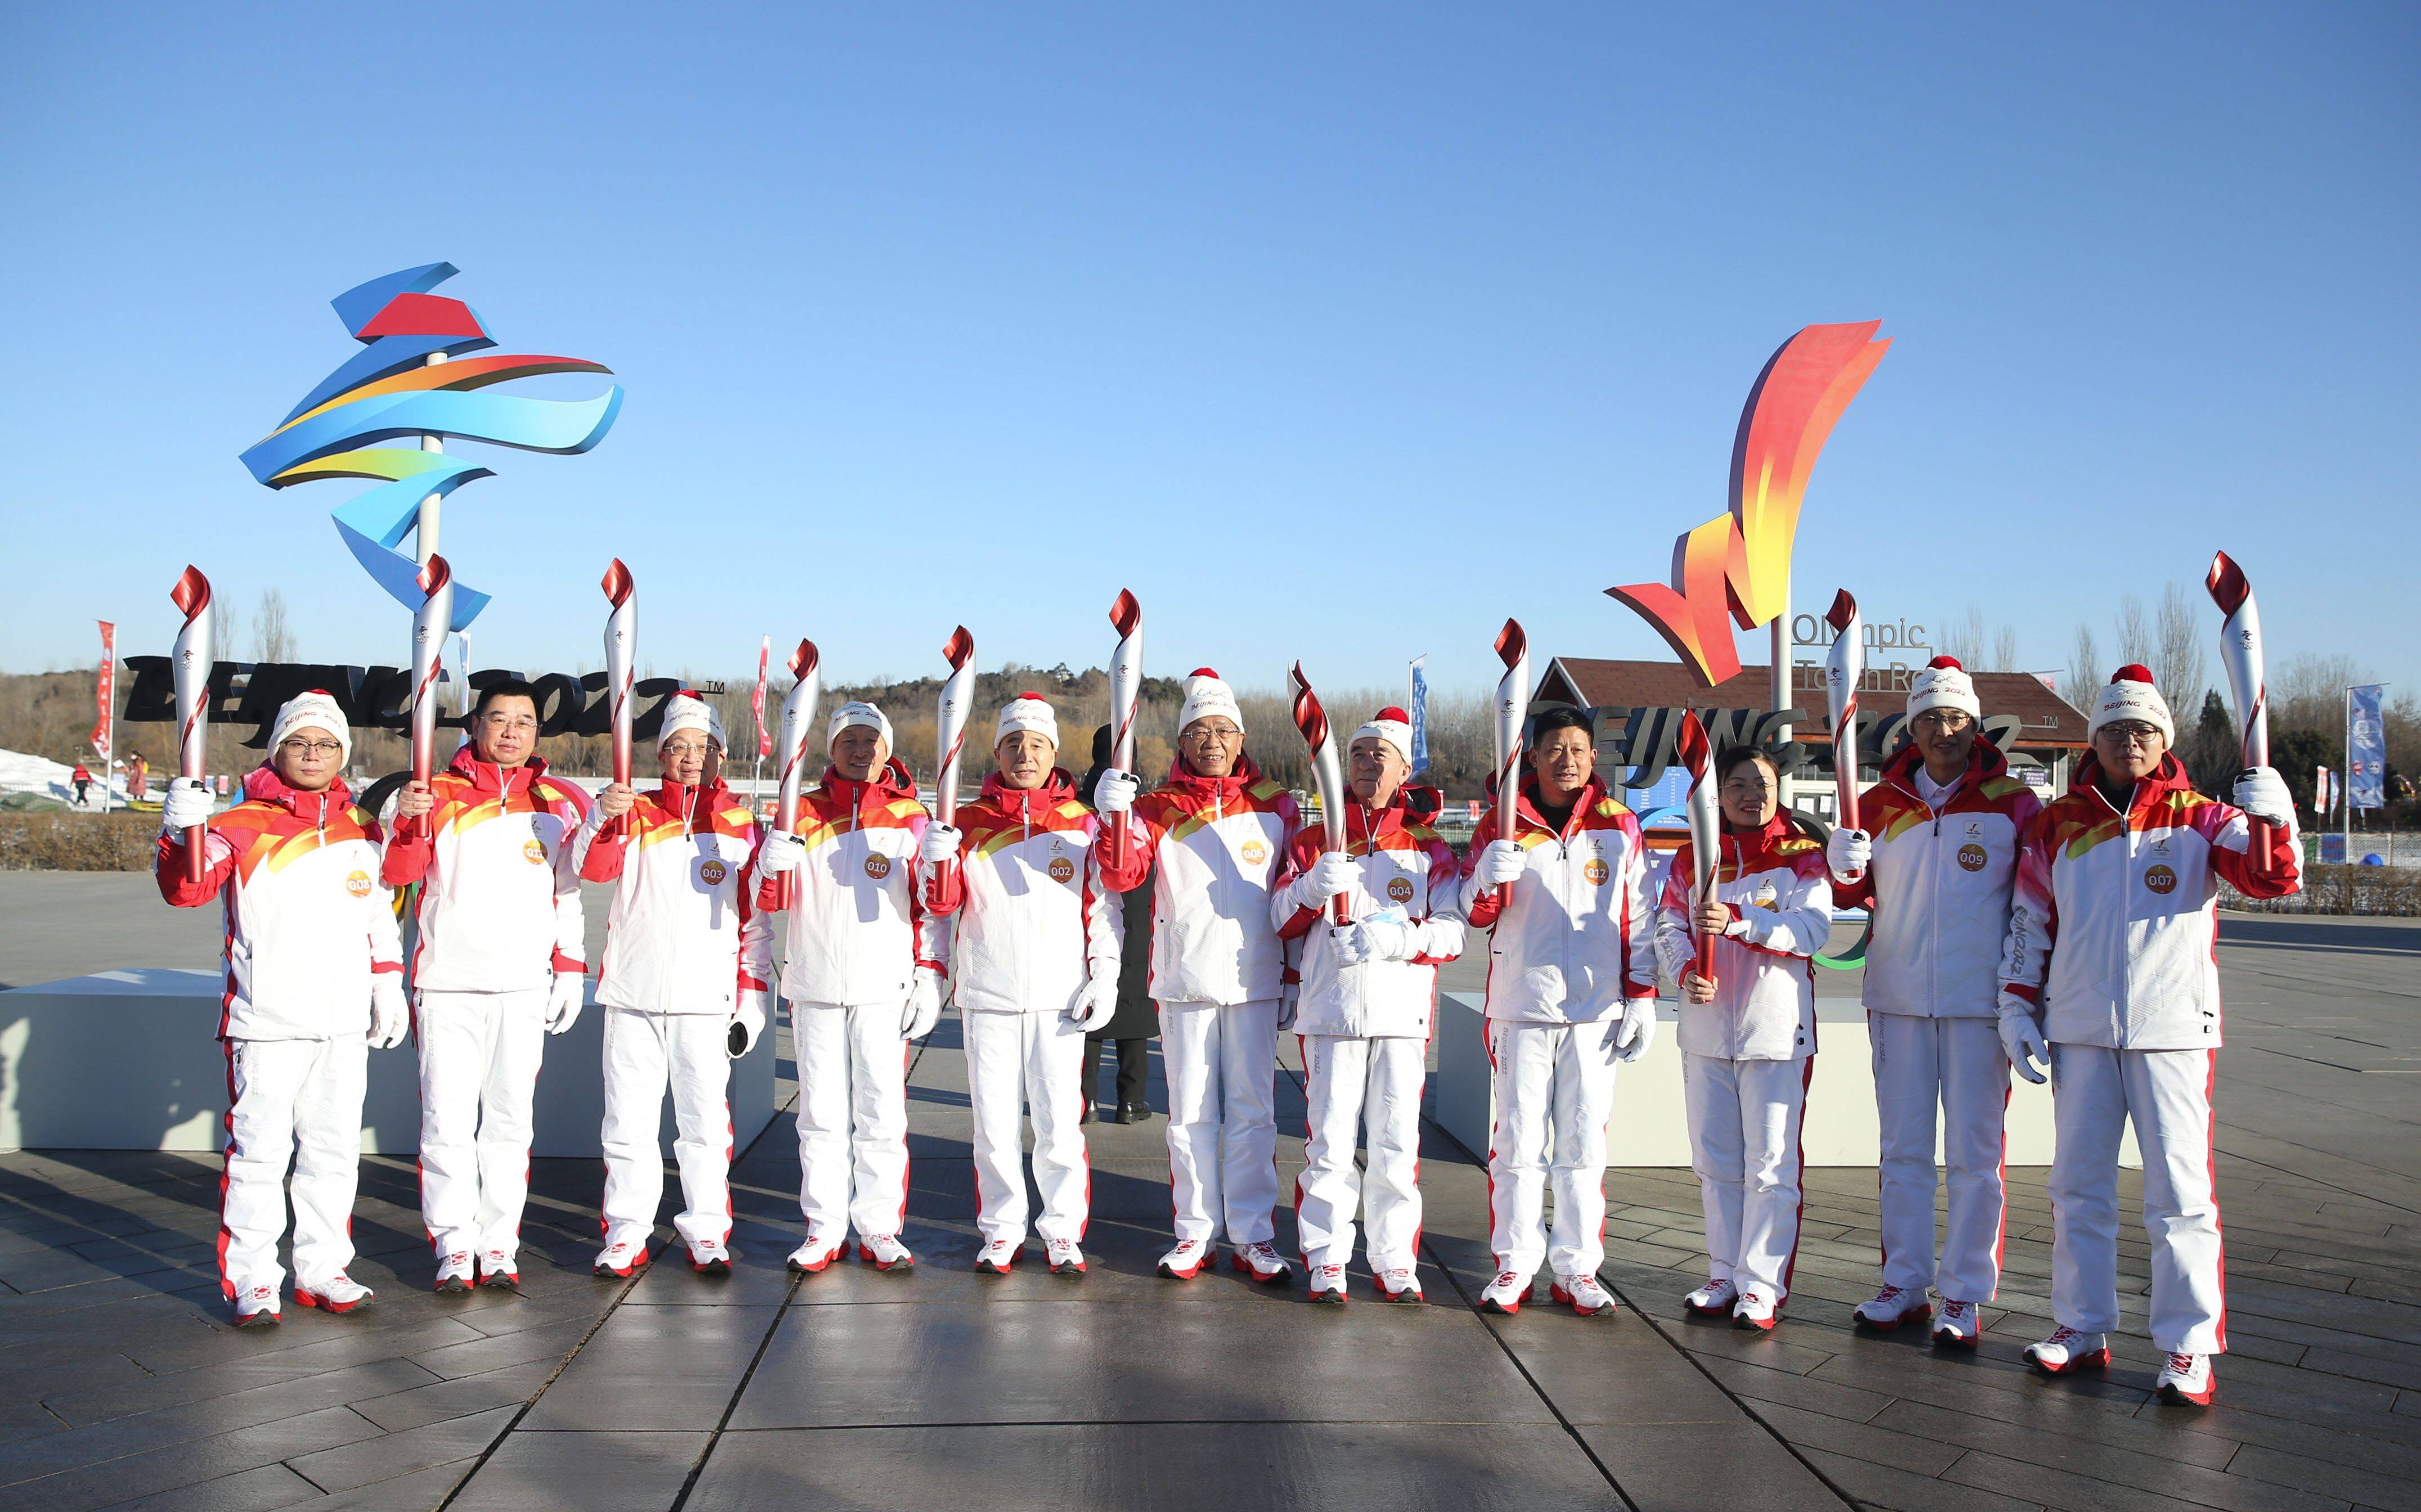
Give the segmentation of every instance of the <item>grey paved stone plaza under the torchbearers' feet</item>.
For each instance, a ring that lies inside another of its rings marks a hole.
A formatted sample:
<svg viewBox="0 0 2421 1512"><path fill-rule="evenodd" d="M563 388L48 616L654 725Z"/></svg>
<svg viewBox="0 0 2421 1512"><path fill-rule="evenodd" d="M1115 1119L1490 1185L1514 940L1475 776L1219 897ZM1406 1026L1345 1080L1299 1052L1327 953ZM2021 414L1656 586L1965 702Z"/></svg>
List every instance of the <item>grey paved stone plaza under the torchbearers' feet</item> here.
<svg viewBox="0 0 2421 1512"><path fill-rule="evenodd" d="M172 917L148 878L0 876L0 919L7 985L215 951L215 917ZM0 1156L0 1507L2421 1507L2421 929L2230 917L2220 965L2232 1352L2208 1413L2152 1403L2140 1333L2106 1379L2022 1367L2048 1331L2043 1171L2009 1173L2007 1282L1963 1357L1847 1328L1876 1202L1845 1168L1808 1173L1770 1338L1683 1321L1704 1275L1687 1171L1608 1178L1617 1318L1482 1318L1486 1173L1433 1125L1426 1306L1378 1304L1365 1275L1346 1309L1300 1280L1152 1277L1160 1120L1089 1130L1087 1280L978 1277L944 1018L910 1086L913 1275L782 1272L799 1164L777 1120L736 1168L724 1282L591 1280L600 1171L537 1161L523 1294L438 1299L412 1161L370 1159L353 1275L378 1306L237 1333L215 1159ZM1288 1072L1286 1166L1300 1127ZM2140 1328L2145 1248L2121 1251Z"/></svg>

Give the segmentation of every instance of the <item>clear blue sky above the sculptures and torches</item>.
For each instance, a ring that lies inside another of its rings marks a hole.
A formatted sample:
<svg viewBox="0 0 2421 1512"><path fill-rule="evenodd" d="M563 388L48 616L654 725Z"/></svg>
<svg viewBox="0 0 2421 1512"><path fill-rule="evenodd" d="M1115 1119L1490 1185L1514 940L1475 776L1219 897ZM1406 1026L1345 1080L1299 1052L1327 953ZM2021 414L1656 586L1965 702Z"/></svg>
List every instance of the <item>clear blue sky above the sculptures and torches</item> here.
<svg viewBox="0 0 2421 1512"><path fill-rule="evenodd" d="M2227 547L2273 660L2421 680L2421 10L1305 10L10 7L0 668L165 651L189 559L397 660L356 484L235 457L445 259L629 389L448 506L479 665L596 665L617 554L700 675L1102 663L1121 585L1242 685L1666 656L1600 590L1881 317L1801 607L2055 668Z"/></svg>

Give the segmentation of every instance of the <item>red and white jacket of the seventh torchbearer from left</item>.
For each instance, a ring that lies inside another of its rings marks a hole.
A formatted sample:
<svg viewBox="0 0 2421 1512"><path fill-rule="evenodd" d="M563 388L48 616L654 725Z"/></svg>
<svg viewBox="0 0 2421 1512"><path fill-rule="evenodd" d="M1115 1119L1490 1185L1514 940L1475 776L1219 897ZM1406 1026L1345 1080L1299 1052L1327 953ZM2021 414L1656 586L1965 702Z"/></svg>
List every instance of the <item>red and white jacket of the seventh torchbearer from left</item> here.
<svg viewBox="0 0 2421 1512"><path fill-rule="evenodd" d="M1462 866L1455 847L1411 818L1416 789L1397 789L1378 813L1351 793L1346 854L1361 876L1344 893L1356 919L1411 927L1411 960L1363 960L1339 965L1329 939L1336 900L1310 895L1310 868L1329 849L1327 830L1305 823L1286 842L1286 871L1269 895L1269 917L1288 941L1288 958L1302 977L1295 997L1298 1035L1346 1035L1358 1040L1426 1040L1438 1006L1438 965L1462 956ZM1421 813L1436 813L1436 793Z"/></svg>

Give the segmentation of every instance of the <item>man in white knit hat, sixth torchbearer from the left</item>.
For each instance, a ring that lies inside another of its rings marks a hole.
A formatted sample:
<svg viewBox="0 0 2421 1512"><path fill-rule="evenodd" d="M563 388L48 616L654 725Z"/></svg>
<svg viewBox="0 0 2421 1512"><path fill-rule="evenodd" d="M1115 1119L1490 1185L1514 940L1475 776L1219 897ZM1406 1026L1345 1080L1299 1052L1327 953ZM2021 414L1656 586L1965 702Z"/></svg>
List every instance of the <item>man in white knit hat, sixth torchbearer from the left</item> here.
<svg viewBox="0 0 2421 1512"><path fill-rule="evenodd" d="M1271 1243L1278 1205L1278 1125L1271 1106L1278 992L1286 973L1269 890L1300 815L1295 798L1244 755L1244 714L1210 668L1186 677L1169 779L1135 796L1131 772L1094 784L1104 883L1152 888L1152 999L1169 1074L1169 1198L1177 1248L1160 1275L1191 1280L1230 1263L1281 1285L1288 1265ZM1111 854L1114 815L1133 810L1128 852Z"/></svg>

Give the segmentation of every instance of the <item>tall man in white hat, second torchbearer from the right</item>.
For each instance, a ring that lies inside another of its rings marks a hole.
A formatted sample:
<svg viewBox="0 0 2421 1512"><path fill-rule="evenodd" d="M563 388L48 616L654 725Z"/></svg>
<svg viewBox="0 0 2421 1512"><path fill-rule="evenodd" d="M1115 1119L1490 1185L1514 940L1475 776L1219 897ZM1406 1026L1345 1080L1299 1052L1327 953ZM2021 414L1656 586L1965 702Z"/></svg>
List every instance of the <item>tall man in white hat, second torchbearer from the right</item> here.
<svg viewBox="0 0 2421 1512"><path fill-rule="evenodd" d="M2017 847L2043 810L1978 740L1976 680L1937 656L1908 685L1908 745L1857 801L1864 827L1833 830L1835 907L1867 907L1867 1040L1884 1132L1884 1289L1859 1328L1934 1316L1934 1343L1973 1350L1980 1304L2000 1294L2002 1118L2009 1060L1995 1014ZM1854 752L1835 752L1854 762ZM1934 1110L1949 1164L1949 1227L1934 1246Z"/></svg>

